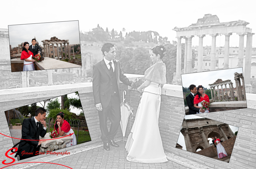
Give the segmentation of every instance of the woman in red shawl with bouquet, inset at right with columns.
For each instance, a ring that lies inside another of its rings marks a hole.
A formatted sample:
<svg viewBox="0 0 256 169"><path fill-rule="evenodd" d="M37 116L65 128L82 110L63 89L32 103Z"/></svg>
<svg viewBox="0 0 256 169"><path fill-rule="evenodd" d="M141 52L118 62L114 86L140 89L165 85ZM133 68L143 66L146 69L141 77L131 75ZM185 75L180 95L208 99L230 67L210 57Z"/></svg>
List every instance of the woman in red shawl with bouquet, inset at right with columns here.
<svg viewBox="0 0 256 169"><path fill-rule="evenodd" d="M196 93L196 96L194 98L194 107L198 108L198 109L202 109L202 102L203 101L207 101L209 103L210 99L209 99L207 94L203 94L203 86L199 85L197 87L197 93ZM197 104L198 104L198 106L197 106ZM209 112L209 109L205 110L204 113L208 113L208 112ZM201 112L200 111L197 112L197 114L199 114L199 113L201 113Z"/></svg>

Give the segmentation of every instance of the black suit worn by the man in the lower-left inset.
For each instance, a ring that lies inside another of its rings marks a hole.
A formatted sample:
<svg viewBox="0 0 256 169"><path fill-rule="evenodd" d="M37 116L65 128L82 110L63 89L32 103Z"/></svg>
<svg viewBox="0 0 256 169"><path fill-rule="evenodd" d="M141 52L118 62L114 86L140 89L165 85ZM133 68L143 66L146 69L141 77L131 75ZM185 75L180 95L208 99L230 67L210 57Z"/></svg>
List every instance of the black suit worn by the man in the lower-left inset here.
<svg viewBox="0 0 256 169"><path fill-rule="evenodd" d="M44 130L43 124L39 123L38 129L37 129L37 125L35 123L34 117L25 118L22 123L22 139L28 139L28 140L26 140L27 143L22 142L23 140L20 140L20 142L22 143L19 144L18 151L19 150L21 151L18 153L18 155L20 157L22 156L23 158L28 158L30 156L29 154L22 155L23 151L28 153L33 152L33 154L35 154L34 151L36 149L39 149L40 147L38 146L39 141L35 141L35 140L39 140L39 136L44 137L45 134L46 134L46 130Z"/></svg>

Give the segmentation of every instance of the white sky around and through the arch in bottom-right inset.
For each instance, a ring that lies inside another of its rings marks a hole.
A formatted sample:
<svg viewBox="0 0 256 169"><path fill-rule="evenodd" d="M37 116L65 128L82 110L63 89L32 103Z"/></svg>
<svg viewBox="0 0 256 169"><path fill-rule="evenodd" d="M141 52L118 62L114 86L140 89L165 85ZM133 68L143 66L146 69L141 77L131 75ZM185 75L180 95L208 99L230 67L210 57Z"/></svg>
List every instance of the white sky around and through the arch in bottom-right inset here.
<svg viewBox="0 0 256 169"><path fill-rule="evenodd" d="M191 115L185 115L184 118L185 119L195 119L195 118L204 118L204 117L200 117L200 116L191 114ZM235 133L239 129L239 127L236 127L236 126L231 126L231 125L228 125L228 126L232 130L233 133ZM212 143L212 138L208 138L208 140L210 140L209 143L211 144ZM186 150L184 136L183 136L183 134L181 132L180 132L180 135L179 135L177 143L182 146L183 150Z"/></svg>

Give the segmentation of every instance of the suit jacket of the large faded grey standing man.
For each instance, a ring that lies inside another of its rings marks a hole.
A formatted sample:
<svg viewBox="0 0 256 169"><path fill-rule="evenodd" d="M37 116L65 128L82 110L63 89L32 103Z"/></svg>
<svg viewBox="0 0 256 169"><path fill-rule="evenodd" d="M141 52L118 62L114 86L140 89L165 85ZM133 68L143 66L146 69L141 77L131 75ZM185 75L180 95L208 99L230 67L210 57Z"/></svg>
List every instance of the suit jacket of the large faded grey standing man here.
<svg viewBox="0 0 256 169"><path fill-rule="evenodd" d="M120 67L120 61L113 60L113 62L115 65L118 93L120 95L119 80L128 86L131 86L132 81L124 75ZM93 65L93 95L95 105L101 103L103 108L106 108L109 105L112 95L112 85L110 71L106 66L104 59L102 59Z"/></svg>

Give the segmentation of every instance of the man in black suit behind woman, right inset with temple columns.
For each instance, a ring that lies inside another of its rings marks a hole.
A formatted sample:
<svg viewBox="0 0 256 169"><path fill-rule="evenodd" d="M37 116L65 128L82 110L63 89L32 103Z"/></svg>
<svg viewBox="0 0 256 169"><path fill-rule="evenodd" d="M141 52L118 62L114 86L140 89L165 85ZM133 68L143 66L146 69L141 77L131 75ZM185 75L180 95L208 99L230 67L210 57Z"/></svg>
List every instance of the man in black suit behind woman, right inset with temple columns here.
<svg viewBox="0 0 256 169"><path fill-rule="evenodd" d="M187 97L186 97L187 105L188 105L188 108L189 108L189 114L197 114L197 112L199 113L199 111L201 113L204 113L205 110L198 109L198 108L194 107L194 98L195 98L196 93L197 93L196 85L191 84L189 86L189 90L190 90L191 93L189 95L187 95Z"/></svg>

